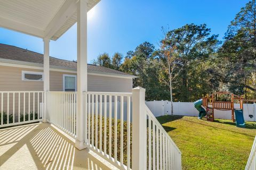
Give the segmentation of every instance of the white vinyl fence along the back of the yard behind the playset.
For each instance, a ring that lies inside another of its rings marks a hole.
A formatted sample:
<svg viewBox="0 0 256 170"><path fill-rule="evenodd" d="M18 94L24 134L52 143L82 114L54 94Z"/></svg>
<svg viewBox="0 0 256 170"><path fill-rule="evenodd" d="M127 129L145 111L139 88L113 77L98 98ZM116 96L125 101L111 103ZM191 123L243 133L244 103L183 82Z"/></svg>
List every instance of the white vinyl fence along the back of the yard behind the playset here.
<svg viewBox="0 0 256 170"><path fill-rule="evenodd" d="M170 101L146 101L146 105L156 117L171 114ZM235 108L238 108L239 104L235 104L234 106ZM244 120L256 121L256 104L244 104L243 106ZM198 116L198 111L192 102L173 102L173 113L174 115L182 116ZM250 117L249 115L252 115L253 117ZM231 111L220 111L215 109L214 118L231 119Z"/></svg>

